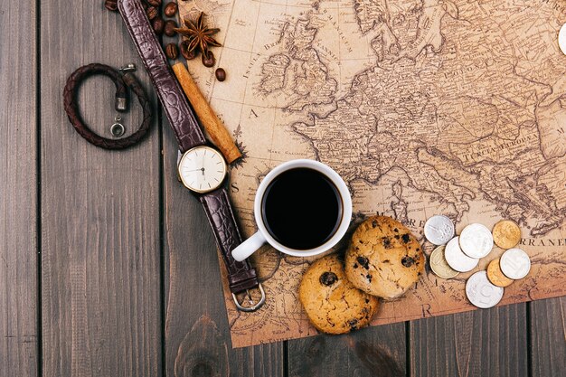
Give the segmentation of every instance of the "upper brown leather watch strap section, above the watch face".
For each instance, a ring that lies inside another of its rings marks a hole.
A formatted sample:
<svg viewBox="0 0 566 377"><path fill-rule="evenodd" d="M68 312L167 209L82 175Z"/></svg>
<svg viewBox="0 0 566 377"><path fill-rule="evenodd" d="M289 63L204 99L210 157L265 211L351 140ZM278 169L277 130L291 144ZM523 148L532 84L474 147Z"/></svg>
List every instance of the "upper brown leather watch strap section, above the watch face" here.
<svg viewBox="0 0 566 377"><path fill-rule="evenodd" d="M140 1L119 0L118 10L156 88L157 97L161 101L169 124L175 131L181 152L193 146L202 146L206 143L203 131L167 63L165 53L157 41L156 33L149 24L146 11Z"/></svg>

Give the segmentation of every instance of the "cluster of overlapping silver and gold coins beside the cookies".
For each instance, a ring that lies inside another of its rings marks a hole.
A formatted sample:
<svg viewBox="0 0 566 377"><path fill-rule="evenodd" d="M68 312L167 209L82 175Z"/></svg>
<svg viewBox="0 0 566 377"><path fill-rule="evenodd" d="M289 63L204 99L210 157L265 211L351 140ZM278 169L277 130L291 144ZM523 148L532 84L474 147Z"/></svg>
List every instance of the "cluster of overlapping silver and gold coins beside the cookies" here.
<svg viewBox="0 0 566 377"><path fill-rule="evenodd" d="M504 287L524 278L531 269L531 259L524 250L514 249L521 240L521 229L514 221L499 221L492 231L482 224L472 223L455 237L452 221L435 215L425 223L424 233L430 243L439 245L429 258L430 269L439 278L454 278L459 272L475 269L479 259L491 252L494 243L506 250L501 258L489 263L486 271L477 271L467 279L467 298L477 307L497 305Z"/></svg>

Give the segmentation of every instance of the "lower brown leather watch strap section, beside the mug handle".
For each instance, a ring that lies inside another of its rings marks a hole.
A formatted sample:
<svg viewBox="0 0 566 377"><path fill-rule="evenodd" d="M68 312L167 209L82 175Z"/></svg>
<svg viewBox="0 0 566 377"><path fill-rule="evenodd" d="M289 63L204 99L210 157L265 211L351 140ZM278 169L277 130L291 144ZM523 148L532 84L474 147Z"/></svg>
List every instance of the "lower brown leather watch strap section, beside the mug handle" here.
<svg viewBox="0 0 566 377"><path fill-rule="evenodd" d="M241 244L241 234L236 225L236 218L231 210L230 198L225 188L216 189L200 196L201 203L206 210L216 243L221 249L222 258L228 269L228 282L233 293L257 287L259 284L256 270L250 262L237 261L231 256L231 250Z"/></svg>

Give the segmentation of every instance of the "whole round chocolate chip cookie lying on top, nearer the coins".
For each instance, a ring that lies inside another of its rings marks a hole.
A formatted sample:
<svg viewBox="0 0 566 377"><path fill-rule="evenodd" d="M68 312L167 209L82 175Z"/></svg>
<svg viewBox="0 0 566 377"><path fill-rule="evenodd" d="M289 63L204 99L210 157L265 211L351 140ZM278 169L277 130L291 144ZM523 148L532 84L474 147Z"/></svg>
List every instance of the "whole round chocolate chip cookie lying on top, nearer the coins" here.
<svg viewBox="0 0 566 377"><path fill-rule="evenodd" d="M345 257L348 280L384 299L400 297L419 280L425 256L401 222L373 216L354 231Z"/></svg>

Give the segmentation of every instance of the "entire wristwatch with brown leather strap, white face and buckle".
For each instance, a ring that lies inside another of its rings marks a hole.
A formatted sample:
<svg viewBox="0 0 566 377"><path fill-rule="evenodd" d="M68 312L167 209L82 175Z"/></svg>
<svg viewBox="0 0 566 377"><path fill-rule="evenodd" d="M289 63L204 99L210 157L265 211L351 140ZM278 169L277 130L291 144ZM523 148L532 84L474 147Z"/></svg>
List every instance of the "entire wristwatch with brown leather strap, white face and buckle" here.
<svg viewBox="0 0 566 377"><path fill-rule="evenodd" d="M224 186L228 174L224 157L209 145L203 136L203 131L175 79L140 0L118 0L118 10L156 89L165 116L175 131L180 153L179 177L184 186L203 203L228 271L234 303L241 311L255 311L265 302L265 291L259 284L256 270L250 266L250 262L239 262L231 256L231 250L241 244L241 233ZM250 295L250 290L255 288L261 293L257 302ZM243 292L246 292L248 297L245 306L236 296Z"/></svg>

